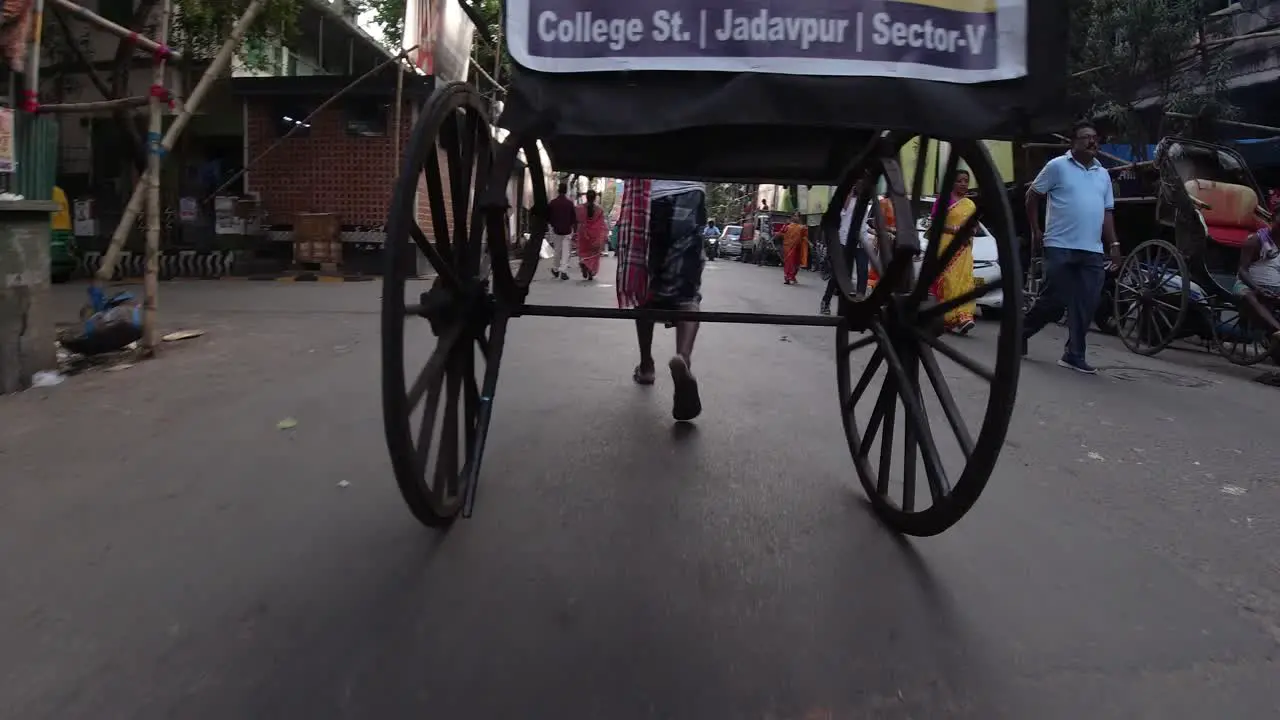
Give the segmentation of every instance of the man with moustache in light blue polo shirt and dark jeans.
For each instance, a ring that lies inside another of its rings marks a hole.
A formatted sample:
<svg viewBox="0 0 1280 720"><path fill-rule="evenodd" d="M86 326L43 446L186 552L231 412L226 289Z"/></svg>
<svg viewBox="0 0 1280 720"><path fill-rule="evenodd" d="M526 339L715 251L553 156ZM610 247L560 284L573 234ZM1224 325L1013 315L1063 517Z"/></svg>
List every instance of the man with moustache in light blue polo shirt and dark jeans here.
<svg viewBox="0 0 1280 720"><path fill-rule="evenodd" d="M1111 176L1098 163L1097 154L1098 131L1088 122L1076 123L1071 128L1071 149L1050 160L1027 191L1032 251L1044 243L1047 283L1023 323L1023 355L1027 355L1027 341L1065 311L1069 337L1057 364L1091 375L1097 370L1084 359L1084 336L1102 296L1107 254L1112 263L1120 263ZM1048 199L1044 229L1039 223L1042 197Z"/></svg>

